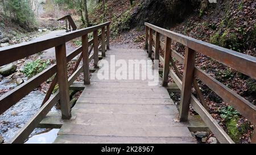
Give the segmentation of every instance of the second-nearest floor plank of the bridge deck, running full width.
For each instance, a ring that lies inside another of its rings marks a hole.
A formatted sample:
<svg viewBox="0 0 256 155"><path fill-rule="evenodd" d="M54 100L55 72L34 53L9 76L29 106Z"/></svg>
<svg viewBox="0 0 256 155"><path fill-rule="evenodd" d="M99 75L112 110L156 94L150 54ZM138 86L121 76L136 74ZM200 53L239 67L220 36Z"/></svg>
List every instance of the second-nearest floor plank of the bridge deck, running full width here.
<svg viewBox="0 0 256 155"><path fill-rule="evenodd" d="M112 125L63 124L59 135L94 135L126 137L190 137L187 127L133 127Z"/></svg>

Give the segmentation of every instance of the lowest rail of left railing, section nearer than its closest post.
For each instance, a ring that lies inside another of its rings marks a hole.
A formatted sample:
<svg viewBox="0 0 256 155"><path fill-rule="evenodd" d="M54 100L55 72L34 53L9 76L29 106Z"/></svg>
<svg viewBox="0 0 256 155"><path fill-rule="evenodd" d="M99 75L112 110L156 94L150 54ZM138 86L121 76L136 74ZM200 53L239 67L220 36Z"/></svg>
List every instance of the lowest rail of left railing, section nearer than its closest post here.
<svg viewBox="0 0 256 155"><path fill-rule="evenodd" d="M28 136L34 131L35 127L41 122L41 120L47 115L52 107L60 99L59 91L57 91L47 102L44 104L38 112L19 130L19 132L9 141L9 143L24 143Z"/></svg>

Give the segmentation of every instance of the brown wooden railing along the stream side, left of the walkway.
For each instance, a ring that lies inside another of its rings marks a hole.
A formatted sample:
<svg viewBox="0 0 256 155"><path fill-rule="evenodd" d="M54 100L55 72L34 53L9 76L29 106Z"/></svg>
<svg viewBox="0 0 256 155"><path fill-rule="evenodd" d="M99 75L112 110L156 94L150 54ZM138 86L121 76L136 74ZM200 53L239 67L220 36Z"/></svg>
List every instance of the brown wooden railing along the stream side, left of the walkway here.
<svg viewBox="0 0 256 155"><path fill-rule="evenodd" d="M97 68L99 49L102 51L102 56L105 56L106 49L109 49L109 25L110 22L106 22L97 26L72 31L65 33L64 35L40 41L30 41L23 44L0 48L0 66L34 55L52 47L55 47L56 55L56 64L49 66L48 69L39 73L35 77L28 79L28 81L22 85L15 87L15 89L0 97L0 114L2 114L56 73L38 112L32 116L32 118L20 129L18 134L16 134L9 143L23 143L59 100L61 104L62 118L71 118L71 105L69 103L68 93L69 86L72 85L82 72L84 73L84 84L88 85L90 83L89 62L94 58L94 67ZM98 30L101 30L99 35ZM93 32L93 39L88 40L88 33L90 32ZM76 39L77 37L81 37L81 47L75 49L75 51L72 51L68 56L66 56L65 43L72 39ZM100 42L101 46L99 46ZM90 55L92 49L93 55ZM71 61L80 53L81 55L76 62L73 73L68 78L67 62ZM82 66L79 67L81 60ZM51 95L57 83L59 85L59 91Z"/></svg>

